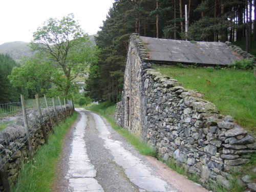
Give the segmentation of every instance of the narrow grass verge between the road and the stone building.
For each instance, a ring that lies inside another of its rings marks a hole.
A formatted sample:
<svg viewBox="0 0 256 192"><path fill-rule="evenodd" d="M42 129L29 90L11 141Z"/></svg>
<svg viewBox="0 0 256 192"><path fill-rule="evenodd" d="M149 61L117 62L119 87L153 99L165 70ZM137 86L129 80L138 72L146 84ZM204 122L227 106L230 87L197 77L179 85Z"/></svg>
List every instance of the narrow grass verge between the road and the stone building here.
<svg viewBox="0 0 256 192"><path fill-rule="evenodd" d="M152 146L147 145L146 141L143 141L135 134L129 133L129 131L123 129L115 123L113 119L116 110L115 104L107 101L100 104L87 106L86 109L102 115L121 136L123 136L138 150L140 154L152 157L157 156L155 149Z"/></svg>

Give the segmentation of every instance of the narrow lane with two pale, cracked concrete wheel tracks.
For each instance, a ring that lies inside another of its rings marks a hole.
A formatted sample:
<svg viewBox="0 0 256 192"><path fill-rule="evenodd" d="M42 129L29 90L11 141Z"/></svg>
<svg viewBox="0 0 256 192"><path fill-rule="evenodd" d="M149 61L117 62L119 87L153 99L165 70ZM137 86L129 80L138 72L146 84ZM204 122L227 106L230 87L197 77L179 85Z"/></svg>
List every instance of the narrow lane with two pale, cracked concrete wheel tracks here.
<svg viewBox="0 0 256 192"><path fill-rule="evenodd" d="M207 191L165 164L140 155L99 115L76 109L53 191Z"/></svg>

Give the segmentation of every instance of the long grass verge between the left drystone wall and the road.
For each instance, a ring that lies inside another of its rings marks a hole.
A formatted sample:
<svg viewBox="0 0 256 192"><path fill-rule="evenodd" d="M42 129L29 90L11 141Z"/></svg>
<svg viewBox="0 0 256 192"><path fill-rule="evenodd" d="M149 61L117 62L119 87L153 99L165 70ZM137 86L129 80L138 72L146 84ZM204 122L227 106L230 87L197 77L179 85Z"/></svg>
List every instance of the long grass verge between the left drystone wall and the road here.
<svg viewBox="0 0 256 192"><path fill-rule="evenodd" d="M34 155L34 163L30 160L23 164L18 183L12 186L15 192L47 192L51 191L56 176L56 165L62 150L62 140L69 127L77 119L77 112L54 128L48 143L39 147Z"/></svg>

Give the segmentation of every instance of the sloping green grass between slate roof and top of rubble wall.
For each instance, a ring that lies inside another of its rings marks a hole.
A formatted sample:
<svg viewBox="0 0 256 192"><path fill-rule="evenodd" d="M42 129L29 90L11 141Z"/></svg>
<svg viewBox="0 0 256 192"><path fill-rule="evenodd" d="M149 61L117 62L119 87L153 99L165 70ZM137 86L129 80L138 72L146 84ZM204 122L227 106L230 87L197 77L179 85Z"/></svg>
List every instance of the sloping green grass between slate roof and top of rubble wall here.
<svg viewBox="0 0 256 192"><path fill-rule="evenodd" d="M179 80L190 90L204 94L223 115L231 115L249 132L256 126L256 79L253 70L153 66L163 75Z"/></svg>

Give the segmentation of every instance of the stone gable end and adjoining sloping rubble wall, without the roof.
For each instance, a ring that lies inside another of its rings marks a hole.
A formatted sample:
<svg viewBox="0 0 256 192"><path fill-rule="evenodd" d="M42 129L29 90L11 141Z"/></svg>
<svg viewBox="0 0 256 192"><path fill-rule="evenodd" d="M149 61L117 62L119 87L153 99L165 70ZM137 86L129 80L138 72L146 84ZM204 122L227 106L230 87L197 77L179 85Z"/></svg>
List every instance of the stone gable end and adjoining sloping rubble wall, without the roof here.
<svg viewBox="0 0 256 192"><path fill-rule="evenodd" d="M231 172L239 171L256 152L255 139L231 116L221 115L213 103L202 99L202 94L183 88L151 66L139 37L133 34L116 122L140 134L164 160L174 158L189 173L198 175L203 186L220 182L229 188ZM127 97L132 99L130 112ZM238 182L256 186L245 179Z"/></svg>

